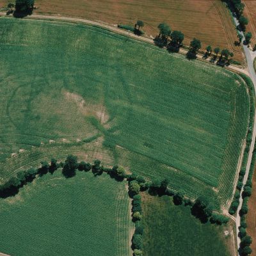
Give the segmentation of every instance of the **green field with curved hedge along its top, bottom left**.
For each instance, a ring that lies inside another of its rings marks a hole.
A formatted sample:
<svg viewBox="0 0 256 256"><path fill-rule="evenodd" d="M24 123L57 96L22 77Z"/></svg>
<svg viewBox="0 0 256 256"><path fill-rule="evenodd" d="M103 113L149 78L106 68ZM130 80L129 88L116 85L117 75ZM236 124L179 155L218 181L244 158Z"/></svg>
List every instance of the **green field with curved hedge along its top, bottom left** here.
<svg viewBox="0 0 256 256"><path fill-rule="evenodd" d="M10 255L131 255L125 182L61 171L0 200L1 252Z"/></svg>

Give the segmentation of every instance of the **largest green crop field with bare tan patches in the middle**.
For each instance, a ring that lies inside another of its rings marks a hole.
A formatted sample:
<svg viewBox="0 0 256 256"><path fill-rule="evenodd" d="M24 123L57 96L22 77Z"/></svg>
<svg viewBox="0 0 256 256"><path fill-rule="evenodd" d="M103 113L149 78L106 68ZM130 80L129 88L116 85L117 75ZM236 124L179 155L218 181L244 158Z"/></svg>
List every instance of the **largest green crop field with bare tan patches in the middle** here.
<svg viewBox="0 0 256 256"><path fill-rule="evenodd" d="M1 17L0 49L2 181L74 152L227 208L249 113L236 74L65 22Z"/></svg>

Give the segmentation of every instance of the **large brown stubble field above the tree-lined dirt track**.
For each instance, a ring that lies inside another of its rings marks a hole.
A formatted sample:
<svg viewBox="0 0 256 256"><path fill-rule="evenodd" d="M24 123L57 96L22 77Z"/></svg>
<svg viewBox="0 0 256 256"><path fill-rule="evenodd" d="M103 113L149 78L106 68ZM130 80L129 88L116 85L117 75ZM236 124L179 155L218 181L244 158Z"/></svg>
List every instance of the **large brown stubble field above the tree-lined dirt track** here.
<svg viewBox="0 0 256 256"><path fill-rule="evenodd" d="M0 0L0 6L8 3ZM243 63L241 47L234 45L237 33L230 14L220 0L36 0L35 13L65 15L99 20L108 24L131 24L137 19L145 22L143 30L148 36L158 34L157 26L167 22L172 29L185 35L184 43L191 38L202 41L202 47L227 48L234 59Z"/></svg>

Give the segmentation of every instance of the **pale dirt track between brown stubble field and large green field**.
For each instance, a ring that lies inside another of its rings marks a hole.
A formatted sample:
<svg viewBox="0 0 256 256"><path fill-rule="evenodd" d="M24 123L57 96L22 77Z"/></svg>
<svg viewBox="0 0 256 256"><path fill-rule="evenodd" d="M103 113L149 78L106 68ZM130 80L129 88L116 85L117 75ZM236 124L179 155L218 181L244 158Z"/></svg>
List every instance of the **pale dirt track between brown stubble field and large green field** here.
<svg viewBox="0 0 256 256"><path fill-rule="evenodd" d="M0 15L6 15L6 13L0 12ZM107 24L102 24L100 22L95 22L95 21L92 21L92 20L72 18L72 17L64 17L64 16L38 15L38 14L29 15L29 16L26 17L26 19L28 19L28 18L46 19L46 20L64 20L64 21L71 21L71 22L81 22L81 23L85 23L85 24L99 26L101 28L106 28L106 29L109 29L110 31L115 31L115 32L117 32L119 34L129 36L130 38L133 38L133 39L136 39L136 40L140 40L140 41L144 41L144 42L148 42L150 44L154 44L154 40L152 40L150 38L146 38L144 36L134 35L132 32L128 32L128 31L125 31L123 29L116 28L115 26L109 26ZM182 54L186 54L188 52L188 50L180 49L179 52L182 53ZM197 56L197 59L199 59L199 60L210 60L210 58L204 59L204 56L202 56L200 54L197 54L196 56ZM216 65L216 64L212 63L212 65ZM236 66L233 66L233 65L229 65L227 68L232 70L232 71L234 71L234 72L241 72L241 73L246 74L247 76L250 76L248 71L244 70L243 68L239 68L239 67L236 67Z"/></svg>

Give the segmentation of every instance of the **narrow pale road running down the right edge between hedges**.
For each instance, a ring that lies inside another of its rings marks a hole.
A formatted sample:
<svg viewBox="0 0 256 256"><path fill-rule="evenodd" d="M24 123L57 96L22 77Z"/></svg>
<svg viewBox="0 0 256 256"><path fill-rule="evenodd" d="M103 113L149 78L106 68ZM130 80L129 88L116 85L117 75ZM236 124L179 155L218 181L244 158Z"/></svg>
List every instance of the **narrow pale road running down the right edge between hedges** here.
<svg viewBox="0 0 256 256"><path fill-rule="evenodd" d="M233 17L234 21L236 22L236 26L239 24L238 20L236 19L236 17ZM243 36L244 39L244 34L243 32L239 32L239 34L241 34ZM248 74L250 76L250 78L253 81L253 85L254 85L254 89L256 92L256 74L255 74L255 70L253 68L253 57L255 56L255 52L252 52L247 45L243 45L244 48L244 53L245 53L245 57L246 57L246 61L247 61L247 65L248 65ZM248 179L248 175L249 175L249 171L250 171L250 166L252 163L252 155L253 155L253 149L254 149L254 145L255 145L255 136L256 136L256 113L254 116L254 125L253 125L253 133L252 133L252 143L250 145L250 151L249 151L249 155L248 155L248 162L246 164L246 172L244 175L244 179L243 179L243 188L241 189L241 193L243 193L244 191L244 185L246 184L246 181ZM243 198L240 197L239 198L239 206L237 208L237 214L236 214L236 235L237 235L237 247L239 248L241 239L238 236L239 233L239 226L241 224L241 217L239 215L239 211L241 210L243 204Z"/></svg>

